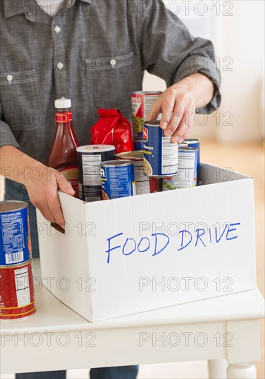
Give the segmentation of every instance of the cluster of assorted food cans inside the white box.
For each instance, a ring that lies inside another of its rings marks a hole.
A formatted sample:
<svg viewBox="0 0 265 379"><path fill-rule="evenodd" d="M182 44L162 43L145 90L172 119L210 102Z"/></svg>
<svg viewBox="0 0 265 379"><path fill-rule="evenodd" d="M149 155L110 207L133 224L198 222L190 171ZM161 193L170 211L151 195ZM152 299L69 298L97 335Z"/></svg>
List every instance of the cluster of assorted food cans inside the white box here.
<svg viewBox="0 0 265 379"><path fill-rule="evenodd" d="M200 141L171 142L160 121L145 121L161 92L131 95L133 152L114 155L112 145L77 147L79 198L86 202L198 185Z"/></svg>

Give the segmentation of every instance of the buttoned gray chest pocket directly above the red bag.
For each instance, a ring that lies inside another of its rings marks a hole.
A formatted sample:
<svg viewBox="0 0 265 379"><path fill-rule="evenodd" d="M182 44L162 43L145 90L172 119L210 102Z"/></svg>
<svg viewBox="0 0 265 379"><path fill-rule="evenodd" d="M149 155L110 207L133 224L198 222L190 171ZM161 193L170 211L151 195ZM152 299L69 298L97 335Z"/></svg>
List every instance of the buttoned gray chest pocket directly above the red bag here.
<svg viewBox="0 0 265 379"><path fill-rule="evenodd" d="M85 61L89 108L118 108L121 112L131 104L134 77L134 54L89 58Z"/></svg>

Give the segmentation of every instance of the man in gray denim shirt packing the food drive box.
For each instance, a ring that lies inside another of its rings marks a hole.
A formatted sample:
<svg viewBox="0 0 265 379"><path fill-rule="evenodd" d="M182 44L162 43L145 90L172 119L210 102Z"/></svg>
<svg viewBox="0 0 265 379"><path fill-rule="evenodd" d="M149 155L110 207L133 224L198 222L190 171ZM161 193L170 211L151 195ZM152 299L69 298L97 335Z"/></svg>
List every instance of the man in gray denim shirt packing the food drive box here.
<svg viewBox="0 0 265 379"><path fill-rule="evenodd" d="M142 89L148 70L168 87L149 118L162 113L165 134L181 142L195 110L218 108L220 74L211 42L191 37L162 0L1 0L0 17L1 173L6 199L29 202L37 256L34 207L64 225L57 190L74 194L44 165L54 135L55 99L72 100L74 130L86 145L98 107L119 108L131 121L131 92ZM37 179L35 169L42 173ZM90 375L136 378L137 367L93 369ZM17 375L35 377L65 378L65 371Z"/></svg>

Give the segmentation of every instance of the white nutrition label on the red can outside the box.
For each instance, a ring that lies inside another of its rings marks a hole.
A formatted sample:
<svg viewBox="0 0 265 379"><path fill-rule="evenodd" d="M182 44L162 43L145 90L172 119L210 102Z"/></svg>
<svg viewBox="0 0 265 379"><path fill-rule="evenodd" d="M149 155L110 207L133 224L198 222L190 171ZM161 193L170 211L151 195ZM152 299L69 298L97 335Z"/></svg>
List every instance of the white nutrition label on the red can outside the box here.
<svg viewBox="0 0 265 379"><path fill-rule="evenodd" d="M28 267L14 270L14 280L17 292L17 306L30 304L30 285L28 280Z"/></svg>

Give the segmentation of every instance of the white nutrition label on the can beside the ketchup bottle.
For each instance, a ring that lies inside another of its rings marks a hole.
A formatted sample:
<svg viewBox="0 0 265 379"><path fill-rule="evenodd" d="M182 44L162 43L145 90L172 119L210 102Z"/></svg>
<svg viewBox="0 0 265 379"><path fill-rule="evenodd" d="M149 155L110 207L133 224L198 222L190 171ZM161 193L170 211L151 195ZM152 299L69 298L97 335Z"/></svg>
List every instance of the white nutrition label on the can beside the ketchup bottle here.
<svg viewBox="0 0 265 379"><path fill-rule="evenodd" d="M100 178L101 155L83 155L83 185L101 185Z"/></svg>

